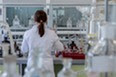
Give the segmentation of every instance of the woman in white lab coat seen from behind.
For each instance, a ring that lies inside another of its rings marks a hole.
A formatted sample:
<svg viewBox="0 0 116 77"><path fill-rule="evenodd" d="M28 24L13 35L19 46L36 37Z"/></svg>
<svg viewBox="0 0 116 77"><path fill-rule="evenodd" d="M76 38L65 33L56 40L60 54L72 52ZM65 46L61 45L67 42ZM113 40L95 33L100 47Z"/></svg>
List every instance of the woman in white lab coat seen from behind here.
<svg viewBox="0 0 116 77"><path fill-rule="evenodd" d="M64 50L63 44L59 41L59 38L55 31L47 28L47 14L38 10L35 13L34 20L36 25L34 25L30 30L26 31L23 37L23 42L21 46L21 50L23 53L28 53L28 62L27 68L31 62L31 52L34 48L41 48L45 54L43 57L43 67L45 69L49 69L52 71L52 77L54 75L54 66L53 66L53 58L51 55L52 49L56 49L57 51Z"/></svg>

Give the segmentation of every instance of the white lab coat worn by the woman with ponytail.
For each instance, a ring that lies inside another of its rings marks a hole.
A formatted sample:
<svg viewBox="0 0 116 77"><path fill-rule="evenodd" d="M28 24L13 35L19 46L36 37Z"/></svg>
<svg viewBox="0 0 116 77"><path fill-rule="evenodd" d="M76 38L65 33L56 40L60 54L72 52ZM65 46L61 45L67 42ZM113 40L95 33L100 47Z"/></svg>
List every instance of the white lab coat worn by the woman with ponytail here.
<svg viewBox="0 0 116 77"><path fill-rule="evenodd" d="M29 63L32 62L31 52L36 47L39 47L44 50L44 52L46 52L43 58L44 69L50 69L53 72L52 77L55 77L51 51L53 48L58 51L62 51L64 49L63 44L59 41L57 34L53 30L45 28L45 34L43 37L40 37L38 34L37 25L33 26L30 30L25 32L21 50L22 53L29 52L27 68L30 65Z"/></svg>

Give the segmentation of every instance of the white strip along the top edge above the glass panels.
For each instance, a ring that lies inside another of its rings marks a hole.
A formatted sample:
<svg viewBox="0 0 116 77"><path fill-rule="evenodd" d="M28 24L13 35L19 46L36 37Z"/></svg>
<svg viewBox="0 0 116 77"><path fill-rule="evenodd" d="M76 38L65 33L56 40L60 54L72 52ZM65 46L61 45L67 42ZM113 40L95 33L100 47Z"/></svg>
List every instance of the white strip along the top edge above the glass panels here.
<svg viewBox="0 0 116 77"><path fill-rule="evenodd" d="M45 4L47 0L0 0L6 4ZM52 4L90 4L92 0L49 0ZM105 0L97 0L98 3L104 3ZM116 0L109 0L110 3L116 3Z"/></svg>

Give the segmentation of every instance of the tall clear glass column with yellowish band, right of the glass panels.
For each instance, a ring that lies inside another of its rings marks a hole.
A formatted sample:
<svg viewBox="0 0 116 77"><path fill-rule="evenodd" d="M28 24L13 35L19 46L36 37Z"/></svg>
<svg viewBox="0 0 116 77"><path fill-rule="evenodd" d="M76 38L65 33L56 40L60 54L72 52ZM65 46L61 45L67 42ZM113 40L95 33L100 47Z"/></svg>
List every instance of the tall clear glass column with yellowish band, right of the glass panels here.
<svg viewBox="0 0 116 77"><path fill-rule="evenodd" d="M92 0L91 5L91 19L90 19L90 26L89 26L89 33L88 33L88 39L89 44L91 46L95 46L98 41L98 30L100 26L100 22L98 21L98 11L97 11L97 0Z"/></svg>

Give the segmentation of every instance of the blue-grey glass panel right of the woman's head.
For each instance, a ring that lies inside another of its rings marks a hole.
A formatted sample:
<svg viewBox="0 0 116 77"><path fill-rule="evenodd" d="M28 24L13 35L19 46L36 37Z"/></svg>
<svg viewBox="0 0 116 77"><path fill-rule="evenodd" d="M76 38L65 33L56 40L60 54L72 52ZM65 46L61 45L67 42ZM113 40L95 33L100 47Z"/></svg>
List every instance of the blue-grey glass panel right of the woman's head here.
<svg viewBox="0 0 116 77"><path fill-rule="evenodd" d="M58 27L66 27L67 21L72 21L72 27L76 27L82 19L88 20L89 6L58 6L53 7L53 23Z"/></svg>

